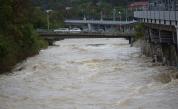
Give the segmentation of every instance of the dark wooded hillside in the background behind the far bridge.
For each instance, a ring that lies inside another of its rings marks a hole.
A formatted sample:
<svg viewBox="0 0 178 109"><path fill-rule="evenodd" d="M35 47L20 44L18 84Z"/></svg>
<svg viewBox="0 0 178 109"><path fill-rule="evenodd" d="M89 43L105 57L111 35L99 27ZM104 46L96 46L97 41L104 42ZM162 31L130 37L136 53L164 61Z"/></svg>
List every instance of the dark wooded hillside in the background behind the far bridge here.
<svg viewBox="0 0 178 109"><path fill-rule="evenodd" d="M112 19L113 9L116 9L116 17L119 19L119 11L122 18L126 16L127 5L138 0L33 0L37 6L43 9L52 9L59 13L61 19L100 19L101 13L104 19ZM130 17L131 12L127 12ZM62 22L62 20L60 21ZM61 26L61 25L60 25Z"/></svg>

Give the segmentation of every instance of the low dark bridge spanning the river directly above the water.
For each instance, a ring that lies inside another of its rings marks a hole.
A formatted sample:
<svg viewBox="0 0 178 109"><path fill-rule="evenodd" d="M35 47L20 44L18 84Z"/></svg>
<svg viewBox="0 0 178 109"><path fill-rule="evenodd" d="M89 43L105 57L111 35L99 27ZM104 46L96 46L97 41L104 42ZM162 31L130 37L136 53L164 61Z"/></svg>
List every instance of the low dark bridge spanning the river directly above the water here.
<svg viewBox="0 0 178 109"><path fill-rule="evenodd" d="M74 38L125 38L132 44L134 33L59 33L59 32L39 32L39 35L49 42Z"/></svg>

